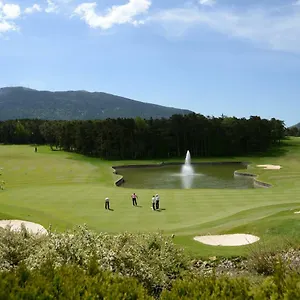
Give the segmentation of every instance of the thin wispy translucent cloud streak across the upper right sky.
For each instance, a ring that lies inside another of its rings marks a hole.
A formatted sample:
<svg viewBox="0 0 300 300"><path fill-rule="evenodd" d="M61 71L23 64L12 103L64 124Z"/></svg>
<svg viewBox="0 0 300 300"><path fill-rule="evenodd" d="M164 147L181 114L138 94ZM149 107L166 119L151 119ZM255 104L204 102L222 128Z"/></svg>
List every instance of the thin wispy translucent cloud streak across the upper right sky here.
<svg viewBox="0 0 300 300"><path fill-rule="evenodd" d="M176 8L161 11L148 21L161 24L172 35L182 35L191 27L206 27L264 48L300 53L300 7L294 5L239 11Z"/></svg>

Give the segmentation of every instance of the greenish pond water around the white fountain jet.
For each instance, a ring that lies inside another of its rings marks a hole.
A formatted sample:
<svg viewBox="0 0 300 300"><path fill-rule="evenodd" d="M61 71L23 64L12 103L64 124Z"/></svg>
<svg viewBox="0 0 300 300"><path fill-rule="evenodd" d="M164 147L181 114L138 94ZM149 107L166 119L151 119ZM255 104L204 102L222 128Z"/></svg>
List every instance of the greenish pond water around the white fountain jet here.
<svg viewBox="0 0 300 300"><path fill-rule="evenodd" d="M158 167L122 167L118 174L124 178L123 188L136 189L252 189L253 178L234 176L242 164L193 164L194 175L182 176L182 165Z"/></svg>

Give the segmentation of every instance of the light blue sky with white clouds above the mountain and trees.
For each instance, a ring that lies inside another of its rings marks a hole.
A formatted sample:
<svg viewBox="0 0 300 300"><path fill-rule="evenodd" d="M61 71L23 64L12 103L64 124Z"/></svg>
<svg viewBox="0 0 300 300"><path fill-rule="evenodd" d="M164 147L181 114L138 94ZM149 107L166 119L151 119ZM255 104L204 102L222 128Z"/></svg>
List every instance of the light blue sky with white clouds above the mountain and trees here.
<svg viewBox="0 0 300 300"><path fill-rule="evenodd" d="M300 122L300 0L0 0L0 87Z"/></svg>

